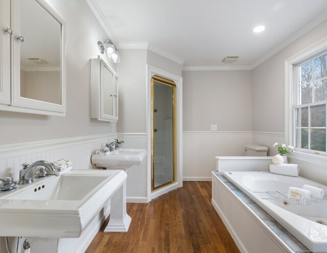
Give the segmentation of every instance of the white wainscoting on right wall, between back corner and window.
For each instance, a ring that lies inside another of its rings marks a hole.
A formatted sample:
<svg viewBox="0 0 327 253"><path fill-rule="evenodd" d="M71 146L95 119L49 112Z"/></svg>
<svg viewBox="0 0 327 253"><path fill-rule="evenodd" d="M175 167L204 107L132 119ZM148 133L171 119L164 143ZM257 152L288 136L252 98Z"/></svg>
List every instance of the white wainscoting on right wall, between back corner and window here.
<svg viewBox="0 0 327 253"><path fill-rule="evenodd" d="M252 144L268 147L268 156L278 154L277 148L272 146L276 142L285 143L284 133L252 132ZM289 143L285 144L290 145Z"/></svg>

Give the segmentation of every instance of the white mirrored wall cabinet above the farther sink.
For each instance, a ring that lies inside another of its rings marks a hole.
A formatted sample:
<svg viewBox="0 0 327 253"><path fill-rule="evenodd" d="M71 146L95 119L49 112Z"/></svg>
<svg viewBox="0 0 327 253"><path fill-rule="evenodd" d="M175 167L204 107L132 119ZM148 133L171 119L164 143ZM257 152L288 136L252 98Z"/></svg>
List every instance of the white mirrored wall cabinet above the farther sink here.
<svg viewBox="0 0 327 253"><path fill-rule="evenodd" d="M91 118L118 121L118 75L100 56L91 59Z"/></svg>

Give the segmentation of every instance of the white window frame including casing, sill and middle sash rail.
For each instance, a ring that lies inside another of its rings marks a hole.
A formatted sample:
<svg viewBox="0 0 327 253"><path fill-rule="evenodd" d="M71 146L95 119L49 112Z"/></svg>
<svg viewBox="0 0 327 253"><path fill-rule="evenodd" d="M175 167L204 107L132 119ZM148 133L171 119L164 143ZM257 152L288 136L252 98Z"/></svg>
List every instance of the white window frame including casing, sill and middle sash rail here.
<svg viewBox="0 0 327 253"><path fill-rule="evenodd" d="M294 147L296 146L296 116L294 107L299 106L297 105L299 73L296 73L296 67L325 53L327 53L327 37L285 60L285 140L288 143L292 143ZM318 104L321 103L326 102L318 102ZM327 161L327 152L317 152L308 149L295 148L295 152L290 153L290 156L305 161L315 160L318 163L324 164Z"/></svg>

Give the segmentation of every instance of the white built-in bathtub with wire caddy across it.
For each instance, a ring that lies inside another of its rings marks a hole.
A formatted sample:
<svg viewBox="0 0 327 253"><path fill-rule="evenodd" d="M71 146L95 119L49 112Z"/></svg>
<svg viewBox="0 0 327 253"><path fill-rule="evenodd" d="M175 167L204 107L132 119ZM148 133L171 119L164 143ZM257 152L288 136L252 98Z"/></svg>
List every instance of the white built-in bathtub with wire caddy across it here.
<svg viewBox="0 0 327 253"><path fill-rule="evenodd" d="M302 177L290 177L270 172L223 172L222 175L240 188L279 224L312 252L327 252L327 200L312 199L295 204L279 195L290 186L304 184L327 187ZM266 192L269 192L266 193Z"/></svg>

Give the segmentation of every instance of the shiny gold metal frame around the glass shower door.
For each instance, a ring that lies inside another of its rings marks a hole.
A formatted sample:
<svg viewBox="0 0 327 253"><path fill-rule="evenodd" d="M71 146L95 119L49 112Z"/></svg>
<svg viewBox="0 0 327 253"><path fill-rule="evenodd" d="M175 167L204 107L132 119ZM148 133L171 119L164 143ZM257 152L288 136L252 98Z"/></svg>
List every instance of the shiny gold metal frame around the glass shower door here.
<svg viewBox="0 0 327 253"><path fill-rule="evenodd" d="M160 83L161 85L166 85L172 87L173 99L172 99L172 132L173 132L173 146L172 146L172 165L173 165L173 180L158 186L154 186L154 82ZM156 191L160 188L166 187L172 183L176 182L176 84L174 81L160 76L152 76L151 78L151 191Z"/></svg>

